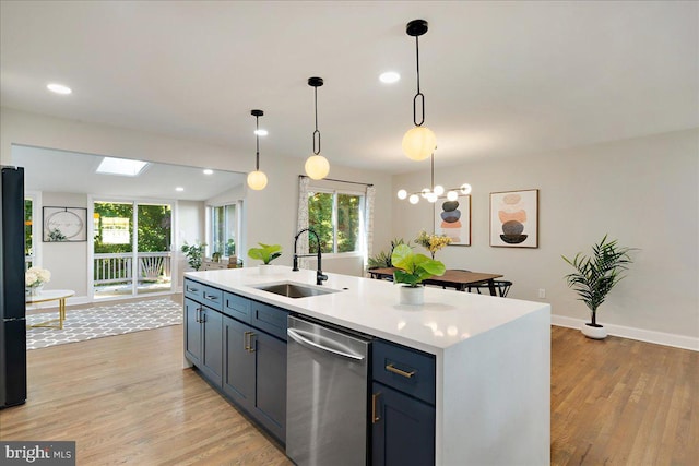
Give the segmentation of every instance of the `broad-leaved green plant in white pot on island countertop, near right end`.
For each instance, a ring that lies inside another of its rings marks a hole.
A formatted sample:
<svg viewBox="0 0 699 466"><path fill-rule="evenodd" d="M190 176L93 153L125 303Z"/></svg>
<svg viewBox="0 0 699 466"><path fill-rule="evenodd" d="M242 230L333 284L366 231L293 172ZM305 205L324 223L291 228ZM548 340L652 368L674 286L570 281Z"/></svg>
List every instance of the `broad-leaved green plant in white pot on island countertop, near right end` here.
<svg viewBox="0 0 699 466"><path fill-rule="evenodd" d="M445 264L425 254L416 254L407 244L399 244L393 249L391 263L396 268L393 282L402 284L401 304L422 304L425 301L423 282L441 276L446 271Z"/></svg>

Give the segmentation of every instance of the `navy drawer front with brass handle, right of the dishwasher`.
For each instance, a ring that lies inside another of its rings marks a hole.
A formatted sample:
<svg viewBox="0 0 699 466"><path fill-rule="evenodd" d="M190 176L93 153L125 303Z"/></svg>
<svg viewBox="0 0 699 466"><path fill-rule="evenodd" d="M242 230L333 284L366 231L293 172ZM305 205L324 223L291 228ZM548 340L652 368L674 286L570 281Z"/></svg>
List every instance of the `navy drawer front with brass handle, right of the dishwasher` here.
<svg viewBox="0 0 699 466"><path fill-rule="evenodd" d="M375 381L435 404L434 356L377 340L374 343L372 367Z"/></svg>

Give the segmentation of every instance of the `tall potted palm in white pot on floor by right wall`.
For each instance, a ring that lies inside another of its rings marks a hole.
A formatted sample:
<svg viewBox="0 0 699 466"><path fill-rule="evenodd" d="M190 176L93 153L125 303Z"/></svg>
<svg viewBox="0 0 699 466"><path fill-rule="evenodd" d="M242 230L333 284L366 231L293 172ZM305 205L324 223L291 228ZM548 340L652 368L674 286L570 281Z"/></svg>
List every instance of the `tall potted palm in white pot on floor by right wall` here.
<svg viewBox="0 0 699 466"><path fill-rule="evenodd" d="M591 322L585 323L581 332L589 338L604 339L607 332L597 323L597 308L604 302L612 288L625 277L623 271L632 263L629 252L636 248L620 247L617 240L602 240L593 244L592 255L578 252L574 258L561 258L576 272L565 276L568 286L578 292L579 300L590 309Z"/></svg>

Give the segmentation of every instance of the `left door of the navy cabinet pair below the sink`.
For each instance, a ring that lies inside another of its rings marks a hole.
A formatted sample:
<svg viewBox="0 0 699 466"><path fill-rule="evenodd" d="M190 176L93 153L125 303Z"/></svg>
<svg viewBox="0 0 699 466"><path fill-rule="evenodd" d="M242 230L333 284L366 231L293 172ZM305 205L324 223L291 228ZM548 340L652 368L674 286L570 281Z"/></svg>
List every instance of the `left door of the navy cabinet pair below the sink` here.
<svg viewBox="0 0 699 466"><path fill-rule="evenodd" d="M254 354L250 350L252 333L248 325L224 316L223 391L250 413L254 407Z"/></svg>

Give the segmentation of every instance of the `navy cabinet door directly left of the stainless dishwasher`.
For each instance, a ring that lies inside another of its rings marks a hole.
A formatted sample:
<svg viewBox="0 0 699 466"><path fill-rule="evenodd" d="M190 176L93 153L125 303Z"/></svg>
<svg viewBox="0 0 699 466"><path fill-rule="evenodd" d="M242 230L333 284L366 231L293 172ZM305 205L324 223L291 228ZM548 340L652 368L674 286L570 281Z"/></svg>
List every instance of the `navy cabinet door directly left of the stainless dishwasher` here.
<svg viewBox="0 0 699 466"><path fill-rule="evenodd" d="M257 359L256 417L286 441L286 342L264 332L253 336Z"/></svg>

